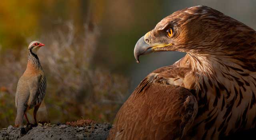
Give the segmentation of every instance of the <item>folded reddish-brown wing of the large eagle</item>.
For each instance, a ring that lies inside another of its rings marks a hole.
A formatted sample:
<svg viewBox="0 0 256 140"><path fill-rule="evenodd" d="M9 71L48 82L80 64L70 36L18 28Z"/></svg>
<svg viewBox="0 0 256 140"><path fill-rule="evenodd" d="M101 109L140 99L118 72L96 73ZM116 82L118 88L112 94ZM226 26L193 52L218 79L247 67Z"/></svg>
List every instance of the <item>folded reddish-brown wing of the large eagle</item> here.
<svg viewBox="0 0 256 140"><path fill-rule="evenodd" d="M153 73L171 69L176 67L163 67ZM163 75L152 76L146 77L120 108L109 140L176 139L186 134L198 110L196 98L183 87L159 82Z"/></svg>

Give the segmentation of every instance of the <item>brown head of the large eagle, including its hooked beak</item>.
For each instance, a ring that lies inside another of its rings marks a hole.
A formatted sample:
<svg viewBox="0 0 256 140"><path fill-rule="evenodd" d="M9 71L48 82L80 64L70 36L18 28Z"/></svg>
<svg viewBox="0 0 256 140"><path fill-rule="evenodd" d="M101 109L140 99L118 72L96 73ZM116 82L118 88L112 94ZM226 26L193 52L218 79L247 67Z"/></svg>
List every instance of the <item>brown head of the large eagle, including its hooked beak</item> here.
<svg viewBox="0 0 256 140"><path fill-rule="evenodd" d="M174 12L142 36L134 57L159 51L182 51L193 55L235 55L255 43L255 31L208 6ZM245 44L247 42L247 44ZM249 45L249 46L248 46Z"/></svg>

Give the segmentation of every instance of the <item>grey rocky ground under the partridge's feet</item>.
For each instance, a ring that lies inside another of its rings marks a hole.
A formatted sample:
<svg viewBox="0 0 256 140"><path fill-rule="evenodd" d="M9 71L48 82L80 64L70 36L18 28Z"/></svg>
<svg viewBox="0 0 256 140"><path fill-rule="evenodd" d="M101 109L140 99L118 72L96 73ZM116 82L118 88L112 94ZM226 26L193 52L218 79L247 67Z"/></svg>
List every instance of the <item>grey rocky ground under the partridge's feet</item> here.
<svg viewBox="0 0 256 140"><path fill-rule="evenodd" d="M82 127L66 124L8 126L0 130L0 140L106 140L110 129L107 123Z"/></svg>

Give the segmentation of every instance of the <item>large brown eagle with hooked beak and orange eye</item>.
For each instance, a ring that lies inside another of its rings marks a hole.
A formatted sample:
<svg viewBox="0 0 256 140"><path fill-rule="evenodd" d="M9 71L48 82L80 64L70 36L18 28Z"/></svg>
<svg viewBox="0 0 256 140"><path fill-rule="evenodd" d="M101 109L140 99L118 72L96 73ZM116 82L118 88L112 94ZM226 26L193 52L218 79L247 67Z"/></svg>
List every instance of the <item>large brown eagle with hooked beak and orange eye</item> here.
<svg viewBox="0 0 256 140"><path fill-rule="evenodd" d="M218 140L255 127L254 29L208 6L185 8L142 36L134 56L160 51L186 55L141 81L108 140Z"/></svg>

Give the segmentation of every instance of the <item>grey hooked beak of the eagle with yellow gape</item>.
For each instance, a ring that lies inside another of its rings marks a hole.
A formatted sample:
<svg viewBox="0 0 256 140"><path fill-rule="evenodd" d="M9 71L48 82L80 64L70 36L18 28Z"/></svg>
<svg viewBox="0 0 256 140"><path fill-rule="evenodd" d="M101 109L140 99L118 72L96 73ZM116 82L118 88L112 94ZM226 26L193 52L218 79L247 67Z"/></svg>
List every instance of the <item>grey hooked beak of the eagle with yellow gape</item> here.
<svg viewBox="0 0 256 140"><path fill-rule="evenodd" d="M170 43L170 44L147 43L145 41L145 38L148 38L149 34L150 34L150 32L148 32L146 35L142 36L137 41L137 43L134 47L134 57L135 57L137 63L140 63L140 60L139 60L140 55L146 55L146 54L149 54L152 52L160 51L160 50L157 50L157 48L172 45L172 43Z"/></svg>

